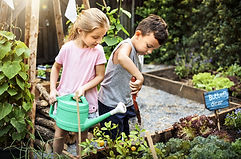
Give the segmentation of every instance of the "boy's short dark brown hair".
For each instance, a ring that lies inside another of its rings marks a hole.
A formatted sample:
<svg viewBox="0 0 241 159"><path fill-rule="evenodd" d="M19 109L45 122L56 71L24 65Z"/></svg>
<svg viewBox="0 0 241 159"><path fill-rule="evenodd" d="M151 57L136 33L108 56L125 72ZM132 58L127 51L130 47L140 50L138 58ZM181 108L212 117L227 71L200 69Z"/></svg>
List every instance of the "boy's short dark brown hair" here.
<svg viewBox="0 0 241 159"><path fill-rule="evenodd" d="M154 14L143 19L138 24L136 30L140 30L143 36L154 33L154 37L160 45L164 44L168 37L166 22L161 17Z"/></svg>

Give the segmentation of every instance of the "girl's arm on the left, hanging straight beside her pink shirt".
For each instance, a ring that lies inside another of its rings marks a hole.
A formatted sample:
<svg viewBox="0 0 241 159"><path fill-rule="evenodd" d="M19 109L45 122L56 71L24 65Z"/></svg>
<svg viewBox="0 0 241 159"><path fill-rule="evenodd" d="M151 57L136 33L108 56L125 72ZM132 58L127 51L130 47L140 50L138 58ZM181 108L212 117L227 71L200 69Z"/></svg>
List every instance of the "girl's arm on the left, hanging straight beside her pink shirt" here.
<svg viewBox="0 0 241 159"><path fill-rule="evenodd" d="M56 101L56 85L59 78L59 71L62 68L62 65L55 62L50 73L50 97L49 97L49 103L53 103Z"/></svg>

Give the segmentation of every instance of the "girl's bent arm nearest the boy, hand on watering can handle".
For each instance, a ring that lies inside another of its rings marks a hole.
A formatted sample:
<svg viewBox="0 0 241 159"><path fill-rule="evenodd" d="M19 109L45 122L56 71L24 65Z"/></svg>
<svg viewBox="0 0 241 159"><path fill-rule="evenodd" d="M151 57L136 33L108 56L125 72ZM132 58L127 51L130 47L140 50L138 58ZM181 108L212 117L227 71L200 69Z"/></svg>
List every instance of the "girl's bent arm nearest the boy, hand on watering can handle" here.
<svg viewBox="0 0 241 159"><path fill-rule="evenodd" d="M105 64L100 64L95 66L95 78L86 83L85 85L81 86L77 91L76 94L78 96L84 95L86 91L90 90L91 88L96 87L100 82L103 81L105 76Z"/></svg>

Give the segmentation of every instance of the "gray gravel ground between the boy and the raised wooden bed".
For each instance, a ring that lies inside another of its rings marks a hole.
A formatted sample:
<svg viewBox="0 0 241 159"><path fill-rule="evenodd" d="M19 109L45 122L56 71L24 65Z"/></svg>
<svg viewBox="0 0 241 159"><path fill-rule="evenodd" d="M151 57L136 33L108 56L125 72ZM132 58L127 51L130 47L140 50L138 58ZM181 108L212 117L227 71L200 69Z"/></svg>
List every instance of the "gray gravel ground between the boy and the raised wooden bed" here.
<svg viewBox="0 0 241 159"><path fill-rule="evenodd" d="M142 128L151 134L170 128L180 118L188 115L213 114L204 104L145 85L138 93L137 103L141 112ZM131 122L131 129L134 128L133 123Z"/></svg>

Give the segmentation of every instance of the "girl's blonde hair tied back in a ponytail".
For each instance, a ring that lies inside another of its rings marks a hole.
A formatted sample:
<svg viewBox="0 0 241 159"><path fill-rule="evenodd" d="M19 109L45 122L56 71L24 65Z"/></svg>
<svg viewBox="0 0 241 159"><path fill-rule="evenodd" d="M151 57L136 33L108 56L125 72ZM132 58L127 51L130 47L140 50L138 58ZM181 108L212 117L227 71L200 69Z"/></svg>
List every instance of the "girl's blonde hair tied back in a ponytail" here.
<svg viewBox="0 0 241 159"><path fill-rule="evenodd" d="M101 10L98 8L82 10L70 29L67 41L75 40L78 37L78 29L88 33L103 27L109 29L110 24L109 19Z"/></svg>

